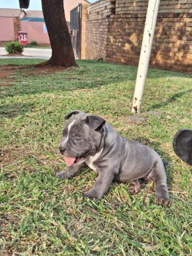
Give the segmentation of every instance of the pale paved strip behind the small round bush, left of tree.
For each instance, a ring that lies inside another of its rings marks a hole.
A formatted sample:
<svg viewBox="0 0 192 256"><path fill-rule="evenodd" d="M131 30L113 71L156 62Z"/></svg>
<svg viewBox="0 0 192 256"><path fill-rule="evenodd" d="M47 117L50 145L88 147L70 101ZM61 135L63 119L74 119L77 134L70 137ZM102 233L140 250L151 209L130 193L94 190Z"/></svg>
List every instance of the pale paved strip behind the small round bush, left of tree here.
<svg viewBox="0 0 192 256"><path fill-rule="evenodd" d="M0 58L23 58L23 59L50 59L51 57L51 49L39 49L39 48L24 48L23 55L21 57L6 57L2 55L6 55L5 47L0 47Z"/></svg>

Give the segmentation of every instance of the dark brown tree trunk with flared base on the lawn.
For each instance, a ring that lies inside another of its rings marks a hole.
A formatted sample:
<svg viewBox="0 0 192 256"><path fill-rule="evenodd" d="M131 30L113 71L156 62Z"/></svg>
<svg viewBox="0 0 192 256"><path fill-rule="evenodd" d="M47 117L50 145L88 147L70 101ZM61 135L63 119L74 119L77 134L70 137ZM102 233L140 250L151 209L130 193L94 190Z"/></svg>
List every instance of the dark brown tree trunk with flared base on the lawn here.
<svg viewBox="0 0 192 256"><path fill-rule="evenodd" d="M78 66L65 20L63 0L42 0L42 9L52 48L50 60L42 64L65 68Z"/></svg>

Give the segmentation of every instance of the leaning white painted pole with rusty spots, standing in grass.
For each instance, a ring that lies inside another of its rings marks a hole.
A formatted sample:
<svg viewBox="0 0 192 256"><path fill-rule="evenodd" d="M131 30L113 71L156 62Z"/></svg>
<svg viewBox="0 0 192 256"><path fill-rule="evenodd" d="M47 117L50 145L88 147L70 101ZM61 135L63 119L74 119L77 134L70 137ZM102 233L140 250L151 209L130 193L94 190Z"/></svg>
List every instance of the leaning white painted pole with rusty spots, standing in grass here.
<svg viewBox="0 0 192 256"><path fill-rule="evenodd" d="M150 52L152 51L153 38L155 34L155 26L157 21L160 0L149 0L147 7L147 15L145 20L145 28L143 33L143 41L141 46L140 60L138 65L138 74L136 75L135 90L132 103L132 113L141 112L141 102L145 87Z"/></svg>

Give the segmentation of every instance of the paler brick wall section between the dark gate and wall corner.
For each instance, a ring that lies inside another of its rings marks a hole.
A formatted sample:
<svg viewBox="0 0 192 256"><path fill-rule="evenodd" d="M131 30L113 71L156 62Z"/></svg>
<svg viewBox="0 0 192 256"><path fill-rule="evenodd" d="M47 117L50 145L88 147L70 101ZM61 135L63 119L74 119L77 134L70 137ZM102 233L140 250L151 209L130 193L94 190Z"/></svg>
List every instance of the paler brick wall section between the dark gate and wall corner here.
<svg viewBox="0 0 192 256"><path fill-rule="evenodd" d="M108 19L113 5L110 0L82 6L81 58L106 59Z"/></svg>

